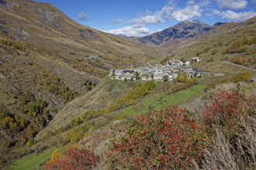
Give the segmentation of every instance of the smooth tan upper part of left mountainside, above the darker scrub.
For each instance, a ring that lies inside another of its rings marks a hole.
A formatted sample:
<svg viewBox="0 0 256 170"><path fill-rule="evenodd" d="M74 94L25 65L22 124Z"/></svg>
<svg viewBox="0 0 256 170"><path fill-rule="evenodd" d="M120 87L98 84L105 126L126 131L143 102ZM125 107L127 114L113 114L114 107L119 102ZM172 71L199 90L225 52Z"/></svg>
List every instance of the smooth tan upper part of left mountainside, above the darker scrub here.
<svg viewBox="0 0 256 170"><path fill-rule="evenodd" d="M47 3L2 0L0 6L0 30L14 39L57 50L65 57L82 59L87 55L115 53L126 59L130 57L127 63L133 63L138 52L143 59L151 56L145 47L81 26Z"/></svg>

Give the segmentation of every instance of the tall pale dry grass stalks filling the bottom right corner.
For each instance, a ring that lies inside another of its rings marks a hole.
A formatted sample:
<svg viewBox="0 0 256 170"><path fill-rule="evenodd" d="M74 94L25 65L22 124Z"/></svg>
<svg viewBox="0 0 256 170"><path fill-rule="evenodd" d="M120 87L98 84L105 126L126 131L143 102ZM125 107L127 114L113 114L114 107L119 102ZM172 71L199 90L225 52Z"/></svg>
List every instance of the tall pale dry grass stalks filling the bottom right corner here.
<svg viewBox="0 0 256 170"><path fill-rule="evenodd" d="M256 168L256 117L241 117L242 131L232 147L223 133L216 130L212 149L204 151L202 168L195 162L196 169L255 169Z"/></svg>

